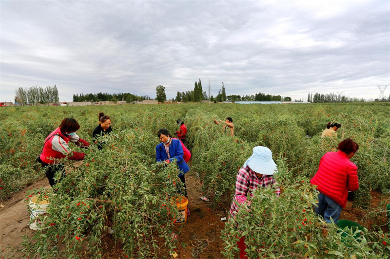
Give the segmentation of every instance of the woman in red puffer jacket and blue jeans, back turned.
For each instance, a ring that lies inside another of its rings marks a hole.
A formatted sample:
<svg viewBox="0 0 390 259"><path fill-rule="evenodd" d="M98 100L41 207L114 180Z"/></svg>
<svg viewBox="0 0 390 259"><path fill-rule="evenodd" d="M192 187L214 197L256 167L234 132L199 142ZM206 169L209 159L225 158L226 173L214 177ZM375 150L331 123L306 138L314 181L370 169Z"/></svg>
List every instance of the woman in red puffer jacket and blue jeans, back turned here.
<svg viewBox="0 0 390 259"><path fill-rule="evenodd" d="M359 145L347 138L338 144L337 149L338 152L327 152L321 158L318 171L310 180L320 192L315 213L328 223L331 223L331 218L337 223L347 204L348 191L359 189L357 166L350 161Z"/></svg>

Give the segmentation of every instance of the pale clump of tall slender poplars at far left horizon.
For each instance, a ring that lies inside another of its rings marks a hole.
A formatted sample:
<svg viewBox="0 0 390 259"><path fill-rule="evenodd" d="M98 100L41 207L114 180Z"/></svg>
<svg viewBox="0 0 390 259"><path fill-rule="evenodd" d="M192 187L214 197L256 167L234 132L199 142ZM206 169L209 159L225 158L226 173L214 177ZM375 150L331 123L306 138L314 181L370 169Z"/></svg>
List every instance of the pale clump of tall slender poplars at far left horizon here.
<svg viewBox="0 0 390 259"><path fill-rule="evenodd" d="M26 105L49 105L51 103L58 103L58 89L57 86L32 86L15 90L15 103L20 106Z"/></svg>

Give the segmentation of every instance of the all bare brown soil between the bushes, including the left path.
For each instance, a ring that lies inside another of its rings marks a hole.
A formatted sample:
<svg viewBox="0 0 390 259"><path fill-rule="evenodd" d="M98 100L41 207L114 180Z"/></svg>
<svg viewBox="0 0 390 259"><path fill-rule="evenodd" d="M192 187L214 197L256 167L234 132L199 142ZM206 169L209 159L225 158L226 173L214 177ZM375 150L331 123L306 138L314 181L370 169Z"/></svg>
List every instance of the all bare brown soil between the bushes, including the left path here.
<svg viewBox="0 0 390 259"><path fill-rule="evenodd" d="M194 172L186 174L186 185L188 188L188 198L190 207L190 216L183 225L175 227L177 236L177 259L186 258L224 258L221 254L223 250L223 241L220 238L221 229L225 222L221 218L228 218L228 212L222 209L212 210L208 202L199 199L203 196L201 193L201 184L194 175ZM0 256L4 258L21 258L20 242L22 236L32 237L34 231L28 228L30 219L25 197L28 190L35 188L50 188L46 178L28 186L24 190L13 194L9 199L1 202L0 206ZM377 207L381 201L387 199L383 194L372 191L371 206ZM347 219L358 222L361 225L371 228L374 225L381 225L386 220L384 213L378 218L367 217L361 209L352 208L353 202L348 202L347 207L343 209L340 219ZM382 230L389 231L386 225L381 226ZM116 251L119 249L109 249L104 258L117 258ZM173 258L169 255L161 257Z"/></svg>

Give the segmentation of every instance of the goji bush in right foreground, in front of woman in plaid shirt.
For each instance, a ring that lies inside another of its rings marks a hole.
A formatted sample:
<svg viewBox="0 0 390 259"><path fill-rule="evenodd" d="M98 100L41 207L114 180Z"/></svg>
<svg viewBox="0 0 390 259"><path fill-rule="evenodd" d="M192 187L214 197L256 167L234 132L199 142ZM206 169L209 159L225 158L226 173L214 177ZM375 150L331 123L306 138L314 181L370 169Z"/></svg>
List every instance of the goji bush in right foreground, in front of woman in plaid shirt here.
<svg viewBox="0 0 390 259"><path fill-rule="evenodd" d="M248 203L222 230L223 254L238 258L236 242L245 237L248 258L388 258L386 233L345 229L319 221L312 207L314 187L304 177L292 177L278 160L276 177L283 193L257 189ZM357 237L358 236L358 237Z"/></svg>

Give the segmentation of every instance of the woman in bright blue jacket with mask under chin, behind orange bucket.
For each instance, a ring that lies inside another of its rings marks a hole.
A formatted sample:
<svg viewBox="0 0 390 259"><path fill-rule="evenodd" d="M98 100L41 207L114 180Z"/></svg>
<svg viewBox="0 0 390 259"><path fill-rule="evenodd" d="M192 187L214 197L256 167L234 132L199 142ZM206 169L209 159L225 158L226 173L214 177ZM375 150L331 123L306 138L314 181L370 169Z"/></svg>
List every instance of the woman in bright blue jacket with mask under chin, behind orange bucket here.
<svg viewBox="0 0 390 259"><path fill-rule="evenodd" d="M181 146L181 141L172 138L171 133L169 133L168 129L158 130L157 136L161 143L156 146L156 161L158 163L169 164L171 162L175 162L176 160L175 163L180 170L178 177L180 178L180 181L184 184L185 188L186 180L184 174L190 170L190 167L184 161L184 151ZM183 195L188 198L186 189L184 190ZM190 215L190 209L187 209L187 215Z"/></svg>

